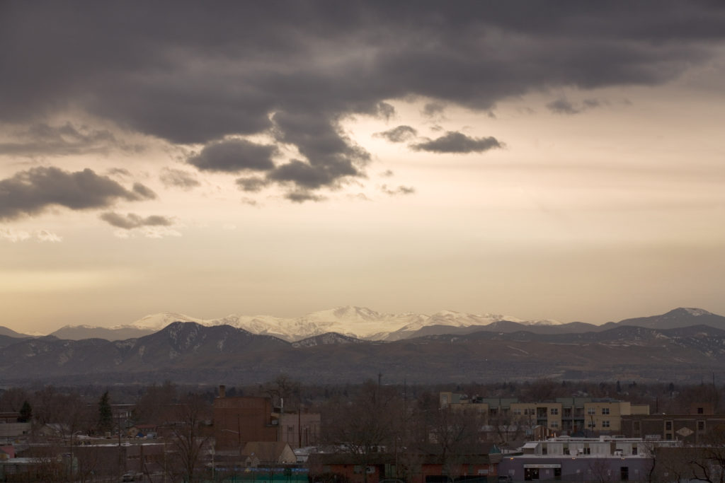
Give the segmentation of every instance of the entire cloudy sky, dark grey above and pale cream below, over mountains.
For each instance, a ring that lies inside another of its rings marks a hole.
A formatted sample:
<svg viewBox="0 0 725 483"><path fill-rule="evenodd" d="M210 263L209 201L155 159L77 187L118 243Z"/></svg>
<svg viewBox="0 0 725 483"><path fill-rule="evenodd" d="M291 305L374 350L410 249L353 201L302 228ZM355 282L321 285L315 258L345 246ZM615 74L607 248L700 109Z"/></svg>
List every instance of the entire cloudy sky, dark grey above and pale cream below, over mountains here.
<svg viewBox="0 0 725 483"><path fill-rule="evenodd" d="M725 314L725 7L0 1L0 325Z"/></svg>

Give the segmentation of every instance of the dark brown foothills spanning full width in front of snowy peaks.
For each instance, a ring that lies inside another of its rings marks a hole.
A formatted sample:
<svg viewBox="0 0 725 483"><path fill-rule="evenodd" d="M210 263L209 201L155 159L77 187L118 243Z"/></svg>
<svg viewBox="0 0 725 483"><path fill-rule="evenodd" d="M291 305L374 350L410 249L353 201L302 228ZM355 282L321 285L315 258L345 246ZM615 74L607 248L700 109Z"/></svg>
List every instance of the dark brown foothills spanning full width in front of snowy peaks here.
<svg viewBox="0 0 725 483"><path fill-rule="evenodd" d="M375 319L362 315L370 312L355 313L372 332ZM708 324L697 324L700 321ZM152 334L126 340L0 333L0 378L13 385L166 379L242 385L279 374L315 383L360 382L378 373L387 382L411 383L539 377L699 382L703 377L725 377L725 317L678 308L660 316L591 326L596 330L588 327L579 322L513 320L478 326L431 324L408 329L408 337L398 340L324 332L290 341L230 324L196 322L171 322Z"/></svg>

